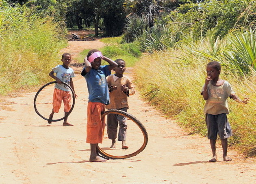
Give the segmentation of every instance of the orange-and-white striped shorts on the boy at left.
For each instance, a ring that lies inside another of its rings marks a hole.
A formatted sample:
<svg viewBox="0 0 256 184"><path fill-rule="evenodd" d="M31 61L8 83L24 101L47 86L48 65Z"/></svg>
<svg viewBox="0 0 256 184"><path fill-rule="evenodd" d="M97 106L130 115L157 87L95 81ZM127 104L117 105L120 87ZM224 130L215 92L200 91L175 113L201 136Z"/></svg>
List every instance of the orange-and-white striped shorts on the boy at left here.
<svg viewBox="0 0 256 184"><path fill-rule="evenodd" d="M53 105L53 111L55 113L59 112L59 109L61 108L62 101L64 103L64 112L69 112L71 109L70 91L63 91L63 90L54 88L52 105Z"/></svg>

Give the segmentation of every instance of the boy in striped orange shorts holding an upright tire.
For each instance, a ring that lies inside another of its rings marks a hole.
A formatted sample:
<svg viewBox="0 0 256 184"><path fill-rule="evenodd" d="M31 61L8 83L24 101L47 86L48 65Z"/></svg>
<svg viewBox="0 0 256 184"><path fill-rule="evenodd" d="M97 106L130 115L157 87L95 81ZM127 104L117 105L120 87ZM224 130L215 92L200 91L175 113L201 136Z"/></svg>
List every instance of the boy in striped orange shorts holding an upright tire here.
<svg viewBox="0 0 256 184"><path fill-rule="evenodd" d="M64 103L64 113L65 116L71 109L71 93L70 89L63 83L65 82L70 85L70 87L74 89L74 84L72 77L75 77L75 73L72 68L69 67L70 62L72 61L71 59L71 54L70 53L63 53L61 61L63 64L59 64L56 67L52 68L52 71L49 73L50 77L55 79L57 83L55 83L55 88L53 92L53 100L52 100L52 113L50 113L49 119L52 120L54 113L58 113L59 109L61 107L61 102L63 101ZM56 73L56 76L54 75ZM76 97L75 93L75 97ZM51 121L48 121L49 124L52 124ZM69 124L67 122L67 117L64 118L63 126L73 126L73 124Z"/></svg>

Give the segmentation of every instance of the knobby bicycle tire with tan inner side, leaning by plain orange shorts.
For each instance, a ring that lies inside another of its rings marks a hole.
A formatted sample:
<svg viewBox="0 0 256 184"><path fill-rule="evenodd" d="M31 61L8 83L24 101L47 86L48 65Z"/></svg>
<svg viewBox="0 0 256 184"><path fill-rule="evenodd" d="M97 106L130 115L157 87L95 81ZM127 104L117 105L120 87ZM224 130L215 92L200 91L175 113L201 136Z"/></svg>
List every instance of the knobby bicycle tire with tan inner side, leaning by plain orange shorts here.
<svg viewBox="0 0 256 184"><path fill-rule="evenodd" d="M114 114L119 114L121 116L125 116L126 118L129 118L135 124L137 124L137 126L139 126L139 128L141 129L141 132L143 134L144 142L143 142L141 148L139 148L139 150L137 150L136 152L133 152L131 154L123 155L123 156L115 156L115 155L108 154L108 153L104 152L99 146L97 146L98 153L104 157L111 158L111 159L124 159L124 158L130 158L132 156L136 156L137 154L142 152L145 149L146 145L148 144L148 133L147 133L145 127L143 126L143 124L132 114L127 113L125 111L117 110L117 109L107 110L101 116L104 117L108 113L114 113Z"/></svg>

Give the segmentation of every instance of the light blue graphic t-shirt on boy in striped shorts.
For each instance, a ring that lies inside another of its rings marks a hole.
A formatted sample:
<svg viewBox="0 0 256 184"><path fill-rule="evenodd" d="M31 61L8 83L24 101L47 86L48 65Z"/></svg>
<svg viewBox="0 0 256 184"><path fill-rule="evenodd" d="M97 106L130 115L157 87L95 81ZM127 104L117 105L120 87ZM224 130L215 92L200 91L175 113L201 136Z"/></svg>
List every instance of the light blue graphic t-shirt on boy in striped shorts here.
<svg viewBox="0 0 256 184"><path fill-rule="evenodd" d="M52 71L56 73L56 77L58 77L61 81L67 83L68 85L70 84L70 78L75 77L75 73L72 68L64 68L61 64L52 68ZM63 91L70 91L69 87L67 87L63 83L55 83L55 88Z"/></svg>

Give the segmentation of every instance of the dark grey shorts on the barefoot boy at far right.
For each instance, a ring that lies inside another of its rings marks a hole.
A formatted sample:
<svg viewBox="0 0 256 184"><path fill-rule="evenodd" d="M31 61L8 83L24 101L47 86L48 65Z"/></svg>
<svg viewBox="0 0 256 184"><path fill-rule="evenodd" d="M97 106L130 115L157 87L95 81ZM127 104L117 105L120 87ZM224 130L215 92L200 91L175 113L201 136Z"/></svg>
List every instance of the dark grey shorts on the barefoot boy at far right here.
<svg viewBox="0 0 256 184"><path fill-rule="evenodd" d="M205 121L208 130L208 139L216 140L217 134L219 134L219 138L221 139L227 139L233 135L227 114L206 114Z"/></svg>

